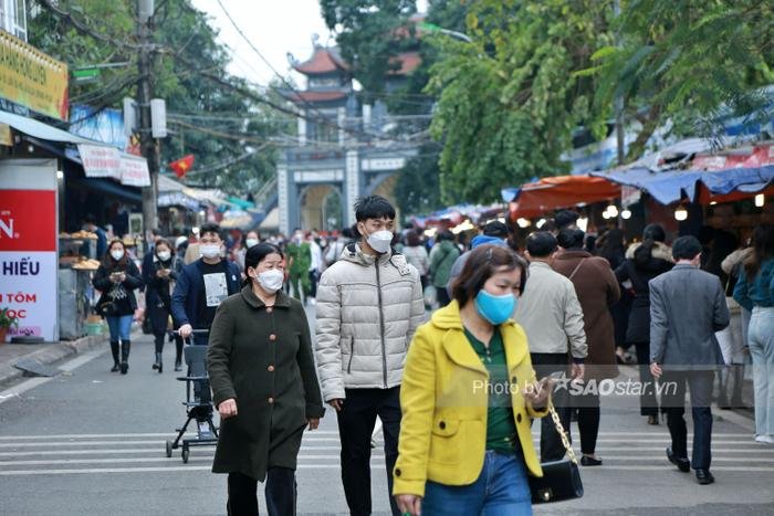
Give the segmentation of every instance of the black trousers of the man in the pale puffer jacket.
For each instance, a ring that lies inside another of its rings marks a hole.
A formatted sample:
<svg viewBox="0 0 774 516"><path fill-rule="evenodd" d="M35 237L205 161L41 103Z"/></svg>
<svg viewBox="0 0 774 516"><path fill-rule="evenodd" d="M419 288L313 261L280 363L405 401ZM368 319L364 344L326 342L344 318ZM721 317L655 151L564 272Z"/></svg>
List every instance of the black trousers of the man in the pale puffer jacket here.
<svg viewBox="0 0 774 516"><path fill-rule="evenodd" d="M370 435L377 415L385 434L387 496L395 516L400 512L393 498L393 470L398 459L400 433L400 388L347 389L338 417L342 440L342 482L352 516L368 516L370 502Z"/></svg>

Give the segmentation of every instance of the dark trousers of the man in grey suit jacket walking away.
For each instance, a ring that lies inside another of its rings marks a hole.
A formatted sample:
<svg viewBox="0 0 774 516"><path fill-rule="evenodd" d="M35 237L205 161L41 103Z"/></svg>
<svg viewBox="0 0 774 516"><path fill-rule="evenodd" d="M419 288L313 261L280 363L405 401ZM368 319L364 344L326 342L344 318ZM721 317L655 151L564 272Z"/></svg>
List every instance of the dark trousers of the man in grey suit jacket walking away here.
<svg viewBox="0 0 774 516"><path fill-rule="evenodd" d="M667 412L667 424L672 438L672 452L688 459L688 429L686 427L686 386L691 396L693 415L693 454L691 467L709 470L712 461L712 383L714 371L665 371L661 375L661 407Z"/></svg>

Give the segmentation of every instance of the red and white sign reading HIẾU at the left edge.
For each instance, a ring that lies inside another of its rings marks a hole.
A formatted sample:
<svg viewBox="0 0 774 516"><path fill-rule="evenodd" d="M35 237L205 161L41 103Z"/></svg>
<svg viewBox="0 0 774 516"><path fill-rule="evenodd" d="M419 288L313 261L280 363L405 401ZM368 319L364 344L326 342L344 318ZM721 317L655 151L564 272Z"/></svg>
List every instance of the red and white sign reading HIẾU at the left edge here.
<svg viewBox="0 0 774 516"><path fill-rule="evenodd" d="M56 192L0 190L0 307L13 335L54 340L57 304Z"/></svg>

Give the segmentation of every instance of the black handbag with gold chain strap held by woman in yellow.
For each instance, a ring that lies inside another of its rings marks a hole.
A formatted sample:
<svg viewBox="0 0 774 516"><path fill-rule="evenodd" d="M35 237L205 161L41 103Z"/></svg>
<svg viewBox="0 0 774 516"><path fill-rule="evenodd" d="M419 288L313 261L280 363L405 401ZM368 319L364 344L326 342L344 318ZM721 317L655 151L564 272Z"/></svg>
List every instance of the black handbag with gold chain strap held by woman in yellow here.
<svg viewBox="0 0 774 516"><path fill-rule="evenodd" d="M562 443L567 450L569 459L561 461L543 462L543 476L530 476L530 491L532 492L532 503L542 504L547 502L559 502L569 498L580 498L583 496L583 482L580 482L580 471L577 459L569 445L567 434L562 428L559 417L553 407L548 409L551 419L554 421L556 431L562 436Z"/></svg>

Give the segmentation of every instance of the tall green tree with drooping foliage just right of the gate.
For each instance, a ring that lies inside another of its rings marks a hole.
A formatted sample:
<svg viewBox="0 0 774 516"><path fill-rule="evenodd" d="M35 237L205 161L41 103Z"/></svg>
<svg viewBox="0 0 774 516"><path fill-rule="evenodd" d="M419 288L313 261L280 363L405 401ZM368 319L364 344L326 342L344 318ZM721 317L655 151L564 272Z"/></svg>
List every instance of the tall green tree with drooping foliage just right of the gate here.
<svg viewBox="0 0 774 516"><path fill-rule="evenodd" d="M566 171L559 156L594 92L573 72L611 41L610 13L606 0L478 0L467 17L472 43L433 38L442 59L426 89L438 95L443 200L493 202L503 186Z"/></svg>

